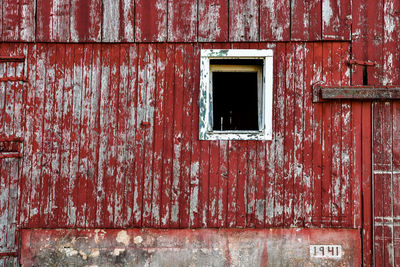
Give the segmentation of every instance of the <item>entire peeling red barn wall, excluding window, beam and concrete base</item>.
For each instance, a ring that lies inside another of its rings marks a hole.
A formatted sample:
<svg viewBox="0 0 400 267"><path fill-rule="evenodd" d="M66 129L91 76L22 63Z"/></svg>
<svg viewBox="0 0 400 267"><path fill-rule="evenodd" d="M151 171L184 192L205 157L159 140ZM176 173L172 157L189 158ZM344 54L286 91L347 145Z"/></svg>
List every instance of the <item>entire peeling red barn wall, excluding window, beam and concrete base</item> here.
<svg viewBox="0 0 400 267"><path fill-rule="evenodd" d="M396 1L0 2L0 55L26 57L0 63L0 134L24 138L0 159L3 247L21 227L350 227L366 265L399 263L399 104L311 103L316 82L400 83ZM272 142L198 141L202 48L274 50Z"/></svg>

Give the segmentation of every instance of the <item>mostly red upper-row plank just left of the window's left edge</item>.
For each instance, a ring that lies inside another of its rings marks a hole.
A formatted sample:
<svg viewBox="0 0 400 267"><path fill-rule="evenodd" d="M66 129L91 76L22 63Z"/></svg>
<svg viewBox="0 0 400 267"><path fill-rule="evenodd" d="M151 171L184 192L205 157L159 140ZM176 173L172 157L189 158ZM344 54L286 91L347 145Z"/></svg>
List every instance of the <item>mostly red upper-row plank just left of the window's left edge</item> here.
<svg viewBox="0 0 400 267"><path fill-rule="evenodd" d="M168 41L197 41L197 0L168 0Z"/></svg>

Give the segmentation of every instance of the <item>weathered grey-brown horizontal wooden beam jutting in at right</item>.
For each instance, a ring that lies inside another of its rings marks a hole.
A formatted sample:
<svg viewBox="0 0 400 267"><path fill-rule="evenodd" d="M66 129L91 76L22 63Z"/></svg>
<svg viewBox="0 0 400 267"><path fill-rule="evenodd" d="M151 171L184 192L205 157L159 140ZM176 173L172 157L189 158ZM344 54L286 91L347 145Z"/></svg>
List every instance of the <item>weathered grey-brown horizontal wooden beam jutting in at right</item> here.
<svg viewBox="0 0 400 267"><path fill-rule="evenodd" d="M313 88L313 102L327 100L396 100L400 99L398 86L320 86Z"/></svg>

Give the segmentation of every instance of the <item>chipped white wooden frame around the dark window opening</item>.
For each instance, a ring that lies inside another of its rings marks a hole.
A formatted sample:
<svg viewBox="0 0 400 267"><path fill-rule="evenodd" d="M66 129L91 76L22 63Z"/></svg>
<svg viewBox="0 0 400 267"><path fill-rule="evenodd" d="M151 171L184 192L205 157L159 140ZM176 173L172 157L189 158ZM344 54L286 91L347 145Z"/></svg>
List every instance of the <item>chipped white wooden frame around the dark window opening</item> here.
<svg viewBox="0 0 400 267"><path fill-rule="evenodd" d="M271 49L202 49L200 60L200 140L272 140L273 51ZM258 125L257 130L213 130L212 72L254 71L257 66L210 65L211 59L261 59L262 79L258 74ZM250 70L251 69L251 70Z"/></svg>

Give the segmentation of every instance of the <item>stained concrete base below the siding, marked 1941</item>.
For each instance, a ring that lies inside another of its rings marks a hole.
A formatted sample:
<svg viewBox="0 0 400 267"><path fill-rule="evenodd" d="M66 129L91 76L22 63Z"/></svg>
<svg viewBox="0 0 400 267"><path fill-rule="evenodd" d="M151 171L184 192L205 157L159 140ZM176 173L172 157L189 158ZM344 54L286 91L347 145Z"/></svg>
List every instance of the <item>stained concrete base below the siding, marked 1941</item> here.
<svg viewBox="0 0 400 267"><path fill-rule="evenodd" d="M360 266L356 229L25 229L22 266Z"/></svg>

